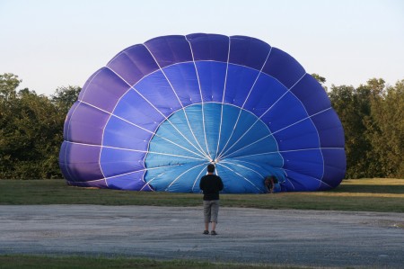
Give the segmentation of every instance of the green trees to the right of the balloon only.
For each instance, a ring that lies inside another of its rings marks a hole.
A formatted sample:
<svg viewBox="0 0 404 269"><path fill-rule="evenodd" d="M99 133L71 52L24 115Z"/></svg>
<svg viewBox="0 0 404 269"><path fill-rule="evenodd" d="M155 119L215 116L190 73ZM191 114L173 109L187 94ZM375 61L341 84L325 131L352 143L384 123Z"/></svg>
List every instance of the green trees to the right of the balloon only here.
<svg viewBox="0 0 404 269"><path fill-rule="evenodd" d="M345 130L347 178L404 175L404 82L386 87L332 85L331 103Z"/></svg>

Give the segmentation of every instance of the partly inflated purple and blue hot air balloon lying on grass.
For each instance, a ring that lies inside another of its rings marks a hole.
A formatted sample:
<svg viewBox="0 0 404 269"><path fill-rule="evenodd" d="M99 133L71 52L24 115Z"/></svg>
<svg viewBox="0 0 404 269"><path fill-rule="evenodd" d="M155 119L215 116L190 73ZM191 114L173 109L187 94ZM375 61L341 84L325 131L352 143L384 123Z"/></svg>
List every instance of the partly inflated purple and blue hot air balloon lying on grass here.
<svg viewBox="0 0 404 269"><path fill-rule="evenodd" d="M334 188L344 131L321 85L290 55L247 36L157 37L119 52L66 116L67 184L199 193L214 163L223 193Z"/></svg>

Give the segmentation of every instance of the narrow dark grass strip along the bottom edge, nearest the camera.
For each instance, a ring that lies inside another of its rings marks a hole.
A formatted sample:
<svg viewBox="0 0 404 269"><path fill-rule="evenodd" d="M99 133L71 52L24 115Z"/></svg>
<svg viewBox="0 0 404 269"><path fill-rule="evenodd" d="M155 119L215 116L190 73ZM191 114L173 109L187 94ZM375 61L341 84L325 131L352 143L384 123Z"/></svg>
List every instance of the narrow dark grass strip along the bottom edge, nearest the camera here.
<svg viewBox="0 0 404 269"><path fill-rule="evenodd" d="M215 269L253 269L253 268L279 268L274 265L239 265L224 263L208 263L191 260L158 261L145 258L127 257L93 257L93 256L0 256L0 268L52 268L52 269L75 269L75 268L215 268ZM282 268L298 268L284 267Z"/></svg>

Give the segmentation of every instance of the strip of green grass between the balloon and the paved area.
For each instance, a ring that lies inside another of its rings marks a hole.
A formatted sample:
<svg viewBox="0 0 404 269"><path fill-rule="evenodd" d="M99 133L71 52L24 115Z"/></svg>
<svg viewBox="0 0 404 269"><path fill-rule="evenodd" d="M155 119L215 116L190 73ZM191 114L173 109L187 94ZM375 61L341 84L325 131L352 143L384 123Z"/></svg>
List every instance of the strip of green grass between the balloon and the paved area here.
<svg viewBox="0 0 404 269"><path fill-rule="evenodd" d="M0 204L200 206L201 194L67 186L64 180L0 180ZM404 212L404 179L345 180L328 192L222 194L225 207Z"/></svg>

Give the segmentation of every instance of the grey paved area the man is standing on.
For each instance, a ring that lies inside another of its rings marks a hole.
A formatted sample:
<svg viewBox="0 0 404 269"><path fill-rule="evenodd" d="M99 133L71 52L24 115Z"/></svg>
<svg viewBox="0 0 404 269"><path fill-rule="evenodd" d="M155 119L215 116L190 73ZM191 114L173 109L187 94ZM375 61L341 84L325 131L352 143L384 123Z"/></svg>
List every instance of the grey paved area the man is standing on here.
<svg viewBox="0 0 404 269"><path fill-rule="evenodd" d="M142 256L268 265L404 267L404 214L201 207L0 206L0 255Z"/></svg>

